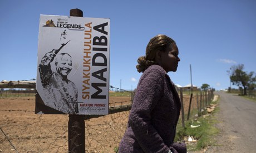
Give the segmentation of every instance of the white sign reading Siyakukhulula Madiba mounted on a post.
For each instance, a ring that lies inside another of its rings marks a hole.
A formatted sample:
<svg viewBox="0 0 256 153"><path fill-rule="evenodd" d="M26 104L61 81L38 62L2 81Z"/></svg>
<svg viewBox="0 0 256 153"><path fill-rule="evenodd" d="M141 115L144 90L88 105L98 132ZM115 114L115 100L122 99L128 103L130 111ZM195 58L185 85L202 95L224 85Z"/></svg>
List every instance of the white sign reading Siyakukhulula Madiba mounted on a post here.
<svg viewBox="0 0 256 153"><path fill-rule="evenodd" d="M106 115L110 19L40 16L37 114Z"/></svg>

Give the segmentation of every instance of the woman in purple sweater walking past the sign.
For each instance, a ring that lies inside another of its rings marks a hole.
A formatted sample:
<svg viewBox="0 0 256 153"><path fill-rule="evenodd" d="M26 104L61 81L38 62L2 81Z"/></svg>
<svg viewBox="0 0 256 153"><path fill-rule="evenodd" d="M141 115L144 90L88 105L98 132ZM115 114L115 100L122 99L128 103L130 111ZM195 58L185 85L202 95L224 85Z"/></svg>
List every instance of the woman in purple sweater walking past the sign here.
<svg viewBox="0 0 256 153"><path fill-rule="evenodd" d="M160 34L147 44L145 57L138 59L136 68L143 74L120 142L120 153L186 152L185 144L173 142L181 105L167 74L176 72L178 54L174 40Z"/></svg>

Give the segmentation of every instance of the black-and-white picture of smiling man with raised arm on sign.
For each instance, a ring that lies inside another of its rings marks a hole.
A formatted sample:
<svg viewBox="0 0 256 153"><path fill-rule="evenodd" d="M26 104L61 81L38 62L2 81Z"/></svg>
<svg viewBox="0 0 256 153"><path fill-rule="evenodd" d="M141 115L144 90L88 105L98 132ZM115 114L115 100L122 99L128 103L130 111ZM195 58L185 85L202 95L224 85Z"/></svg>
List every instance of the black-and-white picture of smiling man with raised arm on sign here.
<svg viewBox="0 0 256 153"><path fill-rule="evenodd" d="M46 53L39 65L40 79L44 90L43 102L63 113L77 114L77 88L67 78L72 70L71 56L67 53L58 54L66 44L62 44L60 49L53 49ZM51 69L53 61L55 61L56 72Z"/></svg>

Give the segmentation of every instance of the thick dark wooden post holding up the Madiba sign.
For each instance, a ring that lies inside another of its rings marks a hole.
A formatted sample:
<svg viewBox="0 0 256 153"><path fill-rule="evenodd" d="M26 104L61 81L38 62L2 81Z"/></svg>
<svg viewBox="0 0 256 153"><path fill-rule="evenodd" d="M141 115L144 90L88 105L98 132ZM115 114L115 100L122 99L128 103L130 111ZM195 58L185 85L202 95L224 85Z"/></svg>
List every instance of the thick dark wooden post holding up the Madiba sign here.
<svg viewBox="0 0 256 153"><path fill-rule="evenodd" d="M71 9L70 16L83 17L80 9ZM85 120L84 115L69 115L68 120L68 152L85 152Z"/></svg>

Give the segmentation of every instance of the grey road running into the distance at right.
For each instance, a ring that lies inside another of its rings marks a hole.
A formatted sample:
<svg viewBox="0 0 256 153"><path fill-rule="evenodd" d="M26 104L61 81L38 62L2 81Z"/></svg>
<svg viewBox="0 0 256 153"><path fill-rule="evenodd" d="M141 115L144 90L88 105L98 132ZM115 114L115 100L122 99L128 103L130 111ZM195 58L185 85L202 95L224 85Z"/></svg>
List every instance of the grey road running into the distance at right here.
<svg viewBox="0 0 256 153"><path fill-rule="evenodd" d="M256 152L256 103L234 94L216 94L220 96L218 146L206 152Z"/></svg>

